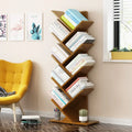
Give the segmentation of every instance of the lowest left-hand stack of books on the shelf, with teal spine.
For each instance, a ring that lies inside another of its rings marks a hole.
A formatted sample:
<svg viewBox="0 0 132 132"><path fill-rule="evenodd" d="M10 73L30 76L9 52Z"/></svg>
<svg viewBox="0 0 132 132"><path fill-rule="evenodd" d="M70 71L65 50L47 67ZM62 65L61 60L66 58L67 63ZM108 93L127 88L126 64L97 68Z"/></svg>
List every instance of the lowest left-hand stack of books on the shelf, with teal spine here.
<svg viewBox="0 0 132 132"><path fill-rule="evenodd" d="M58 87L53 89L52 98L61 108L63 108L69 101L69 98Z"/></svg>

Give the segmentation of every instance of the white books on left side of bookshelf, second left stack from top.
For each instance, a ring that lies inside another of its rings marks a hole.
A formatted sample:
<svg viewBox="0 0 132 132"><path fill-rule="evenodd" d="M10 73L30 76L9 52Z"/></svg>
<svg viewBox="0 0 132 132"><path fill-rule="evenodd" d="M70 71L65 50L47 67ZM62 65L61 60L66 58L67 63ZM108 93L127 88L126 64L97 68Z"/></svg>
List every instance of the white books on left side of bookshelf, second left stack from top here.
<svg viewBox="0 0 132 132"><path fill-rule="evenodd" d="M66 58L69 56L69 54L63 48L63 46L58 44L53 47L52 55L61 63L66 61Z"/></svg>

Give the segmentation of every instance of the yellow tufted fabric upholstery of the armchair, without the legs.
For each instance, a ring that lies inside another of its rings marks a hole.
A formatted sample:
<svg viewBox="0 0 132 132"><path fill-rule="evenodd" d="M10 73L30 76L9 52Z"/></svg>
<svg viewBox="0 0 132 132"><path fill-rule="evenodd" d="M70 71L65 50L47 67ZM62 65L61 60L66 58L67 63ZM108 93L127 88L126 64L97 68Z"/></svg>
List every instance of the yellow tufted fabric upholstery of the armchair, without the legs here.
<svg viewBox="0 0 132 132"><path fill-rule="evenodd" d="M32 62L9 63L0 59L0 87L15 95L0 97L0 105L11 105L20 101L25 94L32 73Z"/></svg>

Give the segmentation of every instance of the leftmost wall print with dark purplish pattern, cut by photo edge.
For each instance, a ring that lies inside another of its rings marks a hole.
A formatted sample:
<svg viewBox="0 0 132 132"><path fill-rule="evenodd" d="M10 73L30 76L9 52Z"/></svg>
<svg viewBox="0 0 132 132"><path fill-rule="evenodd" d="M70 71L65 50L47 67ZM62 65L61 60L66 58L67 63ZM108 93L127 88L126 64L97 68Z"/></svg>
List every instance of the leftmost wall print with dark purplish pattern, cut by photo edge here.
<svg viewBox="0 0 132 132"><path fill-rule="evenodd" d="M0 14L0 41L7 41L7 14Z"/></svg>

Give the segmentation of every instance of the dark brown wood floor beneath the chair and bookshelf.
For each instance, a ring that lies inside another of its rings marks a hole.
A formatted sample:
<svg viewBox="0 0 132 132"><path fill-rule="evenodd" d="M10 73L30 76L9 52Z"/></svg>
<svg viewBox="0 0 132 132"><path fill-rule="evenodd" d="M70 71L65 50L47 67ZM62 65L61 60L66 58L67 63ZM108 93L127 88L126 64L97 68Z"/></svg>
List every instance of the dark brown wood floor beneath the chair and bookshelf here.
<svg viewBox="0 0 132 132"><path fill-rule="evenodd" d="M18 123L13 123L12 114L0 114L0 132L132 132L132 127L113 125L113 124L95 124L90 127L78 127L69 124L50 123L50 119L42 118L42 124L37 128L25 128L20 124L20 116Z"/></svg>

